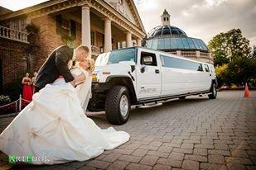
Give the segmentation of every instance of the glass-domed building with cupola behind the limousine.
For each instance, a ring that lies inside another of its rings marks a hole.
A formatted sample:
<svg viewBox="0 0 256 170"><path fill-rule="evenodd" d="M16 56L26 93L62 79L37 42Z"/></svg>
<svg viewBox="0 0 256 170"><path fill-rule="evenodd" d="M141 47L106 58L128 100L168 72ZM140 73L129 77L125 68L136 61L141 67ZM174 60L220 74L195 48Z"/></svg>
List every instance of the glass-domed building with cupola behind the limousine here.
<svg viewBox="0 0 256 170"><path fill-rule="evenodd" d="M180 28L171 26L170 14L167 10L164 10L161 19L162 26L156 26L148 33L145 47L213 63L213 56L203 40L188 37Z"/></svg>

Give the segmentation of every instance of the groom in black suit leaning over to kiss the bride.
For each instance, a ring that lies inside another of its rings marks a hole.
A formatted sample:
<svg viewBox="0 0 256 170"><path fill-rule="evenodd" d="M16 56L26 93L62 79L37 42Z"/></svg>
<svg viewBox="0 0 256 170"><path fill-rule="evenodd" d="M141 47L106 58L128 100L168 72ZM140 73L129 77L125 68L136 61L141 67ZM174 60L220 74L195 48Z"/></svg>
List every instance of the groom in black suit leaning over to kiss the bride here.
<svg viewBox="0 0 256 170"><path fill-rule="evenodd" d="M74 50L75 59L82 61L89 55L89 48L80 45ZM70 73L68 63L73 58L73 50L68 45L61 45L56 48L46 59L46 62L39 69L34 83L34 93L39 92L41 88L48 83L53 83L60 76L65 79L66 83L75 84L80 82L81 76L73 76Z"/></svg>

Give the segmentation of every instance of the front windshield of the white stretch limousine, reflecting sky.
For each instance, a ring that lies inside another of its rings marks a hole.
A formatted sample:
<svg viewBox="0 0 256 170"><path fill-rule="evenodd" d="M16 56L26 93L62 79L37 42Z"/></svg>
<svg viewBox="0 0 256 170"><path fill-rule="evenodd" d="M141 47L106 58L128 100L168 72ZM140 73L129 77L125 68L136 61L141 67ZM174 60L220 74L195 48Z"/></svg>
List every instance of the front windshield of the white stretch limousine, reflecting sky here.
<svg viewBox="0 0 256 170"><path fill-rule="evenodd" d="M99 54L95 65L118 64L121 61L134 61L136 63L135 49L114 50L109 53Z"/></svg>

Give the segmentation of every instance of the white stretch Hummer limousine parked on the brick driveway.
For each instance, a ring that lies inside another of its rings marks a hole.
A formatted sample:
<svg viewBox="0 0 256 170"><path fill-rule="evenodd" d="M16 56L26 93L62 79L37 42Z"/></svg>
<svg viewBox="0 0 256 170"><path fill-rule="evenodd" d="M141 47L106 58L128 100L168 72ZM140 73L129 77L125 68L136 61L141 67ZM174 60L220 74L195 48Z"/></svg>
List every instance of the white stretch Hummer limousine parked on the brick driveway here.
<svg viewBox="0 0 256 170"><path fill-rule="evenodd" d="M128 120L131 105L190 95L217 96L215 68L142 47L99 54L95 61L89 111L105 111L112 124Z"/></svg>

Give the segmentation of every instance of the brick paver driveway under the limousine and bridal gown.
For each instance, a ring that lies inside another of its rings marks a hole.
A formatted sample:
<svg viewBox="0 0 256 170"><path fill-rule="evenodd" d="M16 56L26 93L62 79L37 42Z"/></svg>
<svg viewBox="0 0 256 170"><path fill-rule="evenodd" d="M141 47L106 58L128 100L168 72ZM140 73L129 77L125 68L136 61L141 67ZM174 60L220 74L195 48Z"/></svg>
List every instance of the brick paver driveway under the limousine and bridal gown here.
<svg viewBox="0 0 256 170"><path fill-rule="evenodd" d="M98 158L43 169L256 169L256 92L219 92L217 99L188 97L163 106L136 109L117 130L131 135L127 144ZM12 117L13 118L13 117ZM3 129L12 118L0 120ZM104 116L92 116L102 128ZM1 165L7 167L6 156Z"/></svg>

